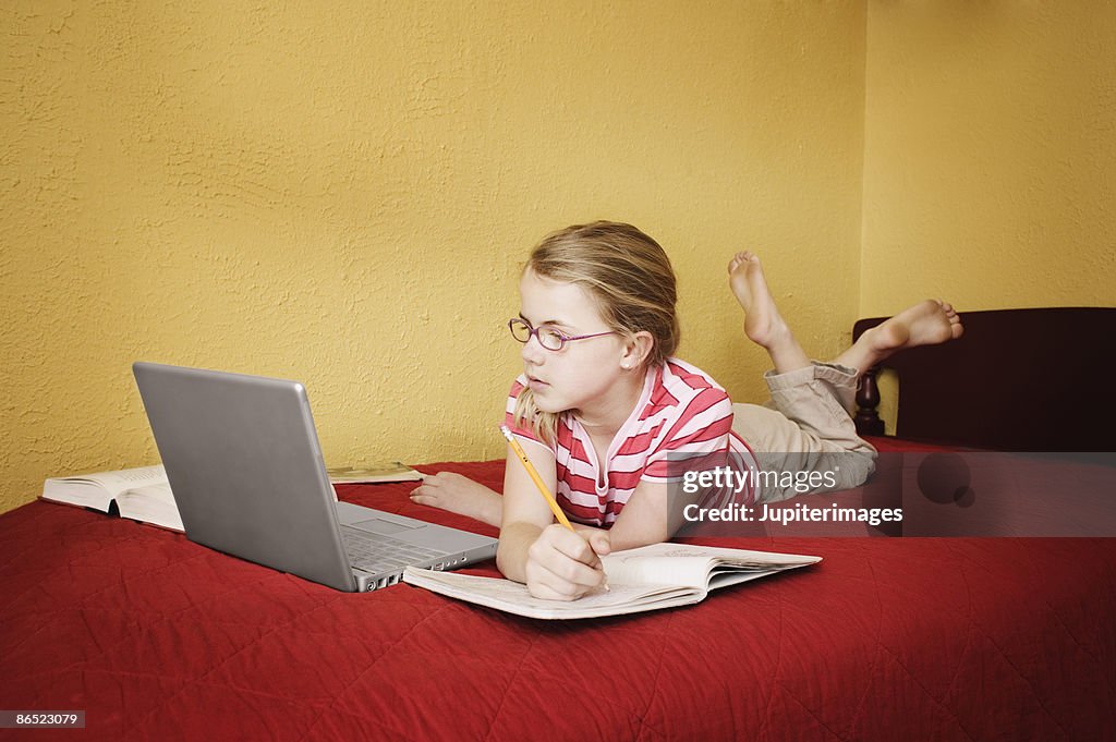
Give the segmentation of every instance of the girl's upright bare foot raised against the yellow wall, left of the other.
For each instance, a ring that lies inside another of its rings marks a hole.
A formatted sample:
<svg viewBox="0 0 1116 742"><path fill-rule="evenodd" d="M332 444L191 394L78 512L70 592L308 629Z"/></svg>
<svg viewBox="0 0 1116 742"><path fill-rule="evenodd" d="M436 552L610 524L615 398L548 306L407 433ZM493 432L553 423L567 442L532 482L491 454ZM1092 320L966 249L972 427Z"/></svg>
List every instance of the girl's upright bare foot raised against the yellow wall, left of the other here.
<svg viewBox="0 0 1116 742"><path fill-rule="evenodd" d="M729 287L744 310L744 335L767 349L776 373L810 365L809 357L776 307L758 256L747 250L733 256L729 261Z"/></svg>

